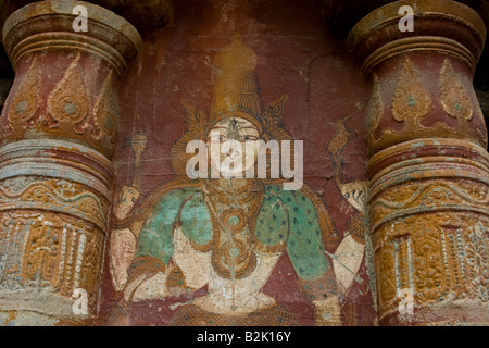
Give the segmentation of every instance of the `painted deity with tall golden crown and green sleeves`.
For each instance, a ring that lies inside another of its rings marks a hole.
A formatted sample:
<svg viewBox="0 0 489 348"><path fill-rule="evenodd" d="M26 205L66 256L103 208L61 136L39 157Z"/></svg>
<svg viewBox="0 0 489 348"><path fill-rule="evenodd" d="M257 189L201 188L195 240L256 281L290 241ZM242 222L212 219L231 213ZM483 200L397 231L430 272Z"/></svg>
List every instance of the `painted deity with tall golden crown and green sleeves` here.
<svg viewBox="0 0 489 348"><path fill-rule="evenodd" d="M209 148L223 140L242 148L250 140L290 141L291 158L298 156L281 122L287 98L263 107L255 65L255 53L235 37L215 58L218 74L210 115L184 101L188 129L171 153L176 178L143 198L138 187L122 189L110 266L115 301L127 315L134 303L193 293L198 296L178 306L170 325L300 325L290 309L264 291L278 260L287 254L313 303L314 324L341 324L338 298L354 282L364 256L362 185L340 188L360 216L340 239L326 203L306 183L286 190L283 184L288 179L283 177L188 176L195 153L188 153L187 145L196 139ZM222 152L218 163L215 158L203 162L210 172L239 156ZM272 162L265 163L268 173ZM239 171L249 170L249 162L242 164ZM259 163L252 165L256 173ZM233 165L228 170L236 174ZM335 252L327 251L331 245Z"/></svg>

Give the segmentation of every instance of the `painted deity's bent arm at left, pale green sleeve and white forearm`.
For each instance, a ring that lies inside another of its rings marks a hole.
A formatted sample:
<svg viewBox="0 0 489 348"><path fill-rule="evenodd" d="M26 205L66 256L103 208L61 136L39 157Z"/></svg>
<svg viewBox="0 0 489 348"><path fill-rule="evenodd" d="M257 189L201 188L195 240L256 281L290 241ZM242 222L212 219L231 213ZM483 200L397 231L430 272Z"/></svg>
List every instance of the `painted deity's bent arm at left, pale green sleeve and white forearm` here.
<svg viewBox="0 0 489 348"><path fill-rule="evenodd" d="M211 235L210 217L199 190L175 189L165 194L138 236L128 268L126 299L166 298L204 286L209 252L192 246L204 248Z"/></svg>

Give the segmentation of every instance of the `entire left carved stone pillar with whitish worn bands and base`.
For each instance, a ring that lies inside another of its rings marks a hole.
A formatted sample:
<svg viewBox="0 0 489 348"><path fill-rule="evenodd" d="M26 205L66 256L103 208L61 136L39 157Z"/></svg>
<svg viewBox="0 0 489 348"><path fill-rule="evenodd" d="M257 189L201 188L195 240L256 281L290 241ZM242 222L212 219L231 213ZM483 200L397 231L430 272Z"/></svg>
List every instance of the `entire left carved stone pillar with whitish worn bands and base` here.
<svg viewBox="0 0 489 348"><path fill-rule="evenodd" d="M74 29L77 5L87 10L87 32ZM114 174L116 85L142 41L109 10L53 0L14 12L3 42L15 80L0 119L0 323L91 324Z"/></svg>

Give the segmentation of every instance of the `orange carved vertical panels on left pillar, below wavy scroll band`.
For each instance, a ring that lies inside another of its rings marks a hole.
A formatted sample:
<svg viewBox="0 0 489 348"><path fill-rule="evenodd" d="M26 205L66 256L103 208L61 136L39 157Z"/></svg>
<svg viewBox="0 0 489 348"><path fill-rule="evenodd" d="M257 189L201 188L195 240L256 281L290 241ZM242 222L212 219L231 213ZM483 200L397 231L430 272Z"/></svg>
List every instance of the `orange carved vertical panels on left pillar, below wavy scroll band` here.
<svg viewBox="0 0 489 348"><path fill-rule="evenodd" d="M34 211L1 213L0 222L0 290L50 287L71 297L83 285L95 295L103 234L92 224Z"/></svg>

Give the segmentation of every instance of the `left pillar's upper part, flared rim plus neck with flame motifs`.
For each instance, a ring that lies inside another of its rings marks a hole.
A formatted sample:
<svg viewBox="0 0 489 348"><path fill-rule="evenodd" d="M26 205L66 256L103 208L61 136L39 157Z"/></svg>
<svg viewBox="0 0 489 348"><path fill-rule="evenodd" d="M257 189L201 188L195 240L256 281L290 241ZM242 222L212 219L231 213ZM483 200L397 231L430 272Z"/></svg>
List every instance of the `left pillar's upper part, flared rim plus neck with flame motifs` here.
<svg viewBox="0 0 489 348"><path fill-rule="evenodd" d="M77 5L87 9L86 32L73 28ZM114 87L141 49L138 32L88 2L42 1L7 20L3 41L16 79L0 122L0 141L62 136L111 158Z"/></svg>

